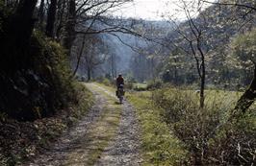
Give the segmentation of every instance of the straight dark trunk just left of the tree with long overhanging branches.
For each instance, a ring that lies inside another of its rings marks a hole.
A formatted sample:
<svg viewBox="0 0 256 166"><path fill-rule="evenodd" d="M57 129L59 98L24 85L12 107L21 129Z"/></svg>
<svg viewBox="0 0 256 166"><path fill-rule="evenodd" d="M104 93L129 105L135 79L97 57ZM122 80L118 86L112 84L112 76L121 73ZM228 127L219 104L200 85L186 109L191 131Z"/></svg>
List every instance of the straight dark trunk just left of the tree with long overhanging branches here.
<svg viewBox="0 0 256 166"><path fill-rule="evenodd" d="M56 19L57 0L51 0L46 23L46 36L54 38L54 23Z"/></svg>

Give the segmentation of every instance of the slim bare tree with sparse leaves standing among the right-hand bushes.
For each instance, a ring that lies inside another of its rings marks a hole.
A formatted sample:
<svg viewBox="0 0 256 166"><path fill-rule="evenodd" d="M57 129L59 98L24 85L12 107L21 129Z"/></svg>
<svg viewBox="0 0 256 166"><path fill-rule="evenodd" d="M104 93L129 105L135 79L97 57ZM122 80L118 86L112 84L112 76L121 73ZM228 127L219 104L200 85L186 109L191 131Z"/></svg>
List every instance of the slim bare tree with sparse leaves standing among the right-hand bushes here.
<svg viewBox="0 0 256 166"><path fill-rule="evenodd" d="M204 107L204 100L205 100L205 80L206 80L206 62L205 57L207 53L210 51L207 46L206 38L204 38L204 34L207 32L207 24L206 24L206 18L205 15L201 15L200 19L194 19L192 18L192 12L194 10L196 12L201 12L201 5L196 3L195 1L192 4L188 4L185 1L180 1L183 3L183 11L186 14L187 22L184 25L184 27L178 25L171 19L172 22L174 22L174 25L176 25L176 31L179 36L182 38L178 38L177 40L181 40L179 42L186 42L189 47L185 47L184 45L174 45L175 47L178 47L179 49L183 50L187 55L193 57L195 61L195 67L196 71L200 80L200 107ZM189 32L189 33L188 33Z"/></svg>

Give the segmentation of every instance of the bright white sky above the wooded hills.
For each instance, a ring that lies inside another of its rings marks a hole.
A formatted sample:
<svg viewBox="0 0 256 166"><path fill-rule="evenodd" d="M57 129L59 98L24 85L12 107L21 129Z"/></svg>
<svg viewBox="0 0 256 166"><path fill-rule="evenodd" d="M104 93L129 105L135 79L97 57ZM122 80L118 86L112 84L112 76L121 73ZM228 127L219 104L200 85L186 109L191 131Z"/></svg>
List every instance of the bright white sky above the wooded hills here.
<svg viewBox="0 0 256 166"><path fill-rule="evenodd" d="M187 0L186 2L191 7L192 2L197 2L197 0ZM203 8L207 6L209 4L204 4ZM133 0L133 2L122 6L121 10L114 12L114 15L147 20L163 20L171 16L172 19L182 20L186 18L182 7L183 3L181 0ZM196 15L196 13L193 15Z"/></svg>

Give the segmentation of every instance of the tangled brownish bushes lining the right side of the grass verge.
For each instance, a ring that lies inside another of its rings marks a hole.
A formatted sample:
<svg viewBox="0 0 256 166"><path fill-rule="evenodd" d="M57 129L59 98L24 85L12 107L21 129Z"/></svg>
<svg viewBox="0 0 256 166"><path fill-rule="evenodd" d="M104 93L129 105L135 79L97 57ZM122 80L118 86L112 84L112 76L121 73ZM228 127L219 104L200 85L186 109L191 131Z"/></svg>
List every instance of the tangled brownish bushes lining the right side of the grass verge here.
<svg viewBox="0 0 256 166"><path fill-rule="evenodd" d="M175 88L154 91L153 100L163 109L162 115L171 130L186 144L194 165L254 162L256 124L252 122L255 114L229 123L227 114L231 108L223 107L221 100L211 100L211 104L199 108L192 91Z"/></svg>

